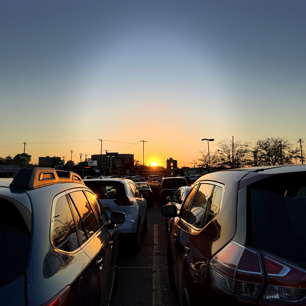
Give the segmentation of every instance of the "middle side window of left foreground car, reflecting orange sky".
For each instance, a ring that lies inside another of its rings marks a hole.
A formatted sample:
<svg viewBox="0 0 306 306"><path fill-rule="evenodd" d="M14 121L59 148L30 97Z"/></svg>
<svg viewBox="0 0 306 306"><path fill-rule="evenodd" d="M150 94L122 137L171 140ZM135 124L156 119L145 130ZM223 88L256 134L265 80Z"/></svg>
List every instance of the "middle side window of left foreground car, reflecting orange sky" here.
<svg viewBox="0 0 306 306"><path fill-rule="evenodd" d="M87 236L90 237L98 230L98 225L91 207L82 191L70 192L69 195L83 221Z"/></svg>

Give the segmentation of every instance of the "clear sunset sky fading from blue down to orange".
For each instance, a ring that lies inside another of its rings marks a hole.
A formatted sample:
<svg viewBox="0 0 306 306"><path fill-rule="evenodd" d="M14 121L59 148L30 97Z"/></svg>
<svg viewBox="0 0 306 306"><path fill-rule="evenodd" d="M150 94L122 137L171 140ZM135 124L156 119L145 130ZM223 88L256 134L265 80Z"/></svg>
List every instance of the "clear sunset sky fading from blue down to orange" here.
<svg viewBox="0 0 306 306"><path fill-rule="evenodd" d="M78 162L102 138L142 162L146 140L145 163L181 167L202 138L296 146L305 33L304 0L1 0L0 156Z"/></svg>

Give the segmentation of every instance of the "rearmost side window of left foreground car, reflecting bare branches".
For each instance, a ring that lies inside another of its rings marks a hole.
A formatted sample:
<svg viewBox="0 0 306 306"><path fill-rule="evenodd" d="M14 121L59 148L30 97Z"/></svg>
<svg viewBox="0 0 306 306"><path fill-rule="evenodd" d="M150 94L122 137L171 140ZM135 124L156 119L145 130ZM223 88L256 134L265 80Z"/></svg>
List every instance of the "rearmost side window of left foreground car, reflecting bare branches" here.
<svg viewBox="0 0 306 306"><path fill-rule="evenodd" d="M76 227L66 196L56 201L54 213L53 243L58 249L72 252L79 247Z"/></svg>

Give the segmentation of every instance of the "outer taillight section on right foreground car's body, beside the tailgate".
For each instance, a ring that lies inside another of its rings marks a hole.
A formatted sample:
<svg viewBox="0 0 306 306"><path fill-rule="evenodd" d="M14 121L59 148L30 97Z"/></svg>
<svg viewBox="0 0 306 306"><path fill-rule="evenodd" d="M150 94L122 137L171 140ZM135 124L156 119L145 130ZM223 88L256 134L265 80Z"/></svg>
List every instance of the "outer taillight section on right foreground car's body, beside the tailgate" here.
<svg viewBox="0 0 306 306"><path fill-rule="evenodd" d="M263 286L259 252L231 241L209 262L212 284L231 295L257 299Z"/></svg>

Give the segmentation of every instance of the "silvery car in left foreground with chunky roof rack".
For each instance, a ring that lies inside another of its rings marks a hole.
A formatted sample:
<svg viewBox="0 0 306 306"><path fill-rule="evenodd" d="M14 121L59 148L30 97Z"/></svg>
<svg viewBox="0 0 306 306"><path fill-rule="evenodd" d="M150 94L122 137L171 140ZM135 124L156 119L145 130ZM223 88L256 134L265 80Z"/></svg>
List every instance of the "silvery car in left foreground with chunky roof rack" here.
<svg viewBox="0 0 306 306"><path fill-rule="evenodd" d="M0 207L0 305L109 304L124 213L108 218L79 175L39 167L0 179Z"/></svg>

